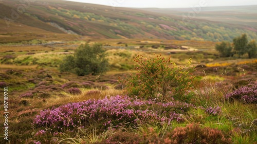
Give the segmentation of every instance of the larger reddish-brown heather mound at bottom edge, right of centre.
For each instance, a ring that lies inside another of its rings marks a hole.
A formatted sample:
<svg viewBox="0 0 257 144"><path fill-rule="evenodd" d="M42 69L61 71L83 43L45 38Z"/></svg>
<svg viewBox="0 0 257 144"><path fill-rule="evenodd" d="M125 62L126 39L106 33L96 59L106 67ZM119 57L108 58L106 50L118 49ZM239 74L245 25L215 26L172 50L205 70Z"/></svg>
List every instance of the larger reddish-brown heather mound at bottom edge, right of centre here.
<svg viewBox="0 0 257 144"><path fill-rule="evenodd" d="M176 128L167 134L165 143L232 143L230 138L216 129L200 128L198 124Z"/></svg>

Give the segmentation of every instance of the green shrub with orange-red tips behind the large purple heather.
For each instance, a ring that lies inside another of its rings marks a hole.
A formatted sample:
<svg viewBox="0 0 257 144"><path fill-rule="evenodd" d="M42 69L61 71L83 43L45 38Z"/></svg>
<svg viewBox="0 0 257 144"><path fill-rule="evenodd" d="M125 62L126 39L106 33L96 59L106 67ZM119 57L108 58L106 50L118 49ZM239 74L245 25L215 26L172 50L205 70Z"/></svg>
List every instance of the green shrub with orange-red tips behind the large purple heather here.
<svg viewBox="0 0 257 144"><path fill-rule="evenodd" d="M125 85L124 92L128 96L152 99L166 102L175 100L189 102L192 89L194 67L188 65L182 67L157 55L152 59L137 56L134 61L136 75L125 76L120 82Z"/></svg>

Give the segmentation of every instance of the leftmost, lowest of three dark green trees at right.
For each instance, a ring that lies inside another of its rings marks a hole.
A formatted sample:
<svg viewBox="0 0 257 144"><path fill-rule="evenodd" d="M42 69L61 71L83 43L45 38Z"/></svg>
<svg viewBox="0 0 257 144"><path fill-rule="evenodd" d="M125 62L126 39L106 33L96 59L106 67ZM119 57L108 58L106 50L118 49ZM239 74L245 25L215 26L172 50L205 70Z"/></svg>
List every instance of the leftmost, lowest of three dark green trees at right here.
<svg viewBox="0 0 257 144"><path fill-rule="evenodd" d="M221 44L216 44L215 49L221 53L222 57L233 56L232 46L229 42L223 41Z"/></svg>

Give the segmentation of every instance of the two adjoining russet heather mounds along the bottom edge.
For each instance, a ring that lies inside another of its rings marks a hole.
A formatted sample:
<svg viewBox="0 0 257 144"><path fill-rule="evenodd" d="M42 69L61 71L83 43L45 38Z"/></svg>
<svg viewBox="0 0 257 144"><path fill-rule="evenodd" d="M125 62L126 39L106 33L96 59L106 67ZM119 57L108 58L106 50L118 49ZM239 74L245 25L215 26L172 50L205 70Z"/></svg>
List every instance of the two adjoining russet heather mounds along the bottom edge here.
<svg viewBox="0 0 257 144"><path fill-rule="evenodd" d="M113 136L97 143L232 143L222 131L217 129L200 128L198 124L189 124L187 127L178 127L162 137L158 137L153 128L149 128L151 135L140 137L137 134L117 132Z"/></svg>

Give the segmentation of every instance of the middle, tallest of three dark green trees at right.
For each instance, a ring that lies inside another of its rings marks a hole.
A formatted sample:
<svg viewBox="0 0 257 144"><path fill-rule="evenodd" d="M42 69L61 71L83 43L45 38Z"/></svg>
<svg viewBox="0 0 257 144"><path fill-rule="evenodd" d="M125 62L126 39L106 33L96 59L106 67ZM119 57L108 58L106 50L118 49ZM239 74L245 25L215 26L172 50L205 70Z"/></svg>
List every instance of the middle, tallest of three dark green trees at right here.
<svg viewBox="0 0 257 144"><path fill-rule="evenodd" d="M247 52L247 43L248 40L246 34L242 34L241 37L233 39L234 50L238 54L239 58Z"/></svg>

